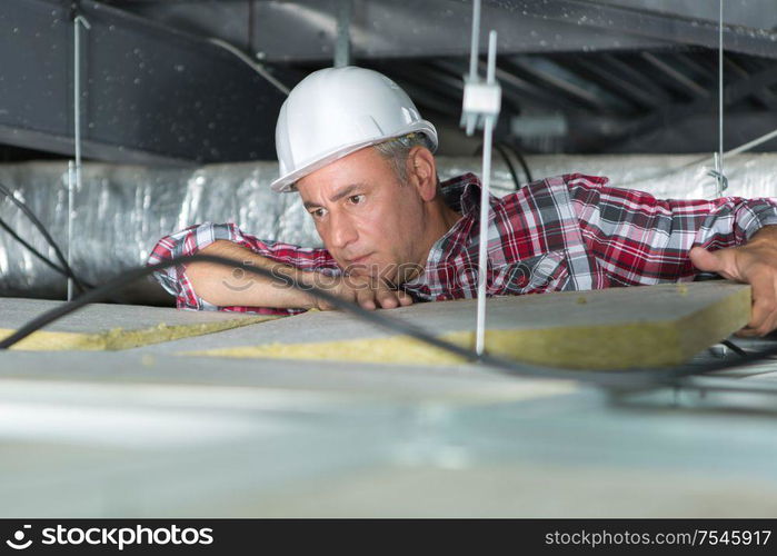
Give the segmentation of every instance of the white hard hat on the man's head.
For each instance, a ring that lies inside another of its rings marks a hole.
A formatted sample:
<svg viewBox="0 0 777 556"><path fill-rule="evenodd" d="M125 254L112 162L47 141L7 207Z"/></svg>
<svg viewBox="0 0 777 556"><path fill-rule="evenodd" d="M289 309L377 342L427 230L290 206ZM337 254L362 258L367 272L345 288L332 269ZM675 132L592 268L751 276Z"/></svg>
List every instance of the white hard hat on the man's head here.
<svg viewBox="0 0 777 556"><path fill-rule="evenodd" d="M437 130L410 97L386 76L365 68L327 68L295 87L280 108L276 191L293 191L310 172L351 152L407 133L424 133L437 149Z"/></svg>

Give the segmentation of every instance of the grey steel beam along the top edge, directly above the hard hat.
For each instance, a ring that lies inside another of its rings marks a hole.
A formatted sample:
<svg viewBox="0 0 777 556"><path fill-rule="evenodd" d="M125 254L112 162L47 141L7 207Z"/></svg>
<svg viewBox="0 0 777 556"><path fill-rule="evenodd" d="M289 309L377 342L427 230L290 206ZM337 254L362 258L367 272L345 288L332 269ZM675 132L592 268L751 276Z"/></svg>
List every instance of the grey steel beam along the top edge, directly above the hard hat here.
<svg viewBox="0 0 777 556"><path fill-rule="evenodd" d="M195 34L255 47L267 62L330 62L337 44L338 0L145 2L112 0L128 10ZM249 4L256 24L246 24ZM465 56L471 2L356 0L351 56L358 60ZM486 7L482 29L499 33L499 53L654 48L663 43L611 30L538 21ZM247 33L251 37L247 37ZM481 41L482 51L486 44Z"/></svg>

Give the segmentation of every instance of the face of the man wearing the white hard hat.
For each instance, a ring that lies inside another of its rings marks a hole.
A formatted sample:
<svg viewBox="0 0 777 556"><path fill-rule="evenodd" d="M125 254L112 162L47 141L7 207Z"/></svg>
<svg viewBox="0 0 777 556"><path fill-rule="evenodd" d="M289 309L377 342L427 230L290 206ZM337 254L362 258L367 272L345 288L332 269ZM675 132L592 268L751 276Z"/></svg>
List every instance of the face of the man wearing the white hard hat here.
<svg viewBox="0 0 777 556"><path fill-rule="evenodd" d="M398 269L424 265L424 200L401 185L373 148L358 150L297 182L323 246L351 275L398 281ZM401 281L404 278L399 278Z"/></svg>

